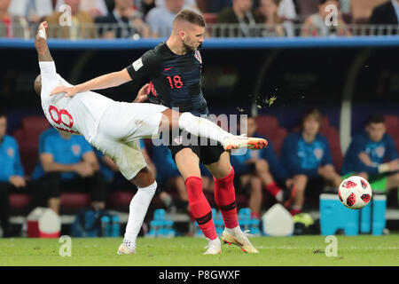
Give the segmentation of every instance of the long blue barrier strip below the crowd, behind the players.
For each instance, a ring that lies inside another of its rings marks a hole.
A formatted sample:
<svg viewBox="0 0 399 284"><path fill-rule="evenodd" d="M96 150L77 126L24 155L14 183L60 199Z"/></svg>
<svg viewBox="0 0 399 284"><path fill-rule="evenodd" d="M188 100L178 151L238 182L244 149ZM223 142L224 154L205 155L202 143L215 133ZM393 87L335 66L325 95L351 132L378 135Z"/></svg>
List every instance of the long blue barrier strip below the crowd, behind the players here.
<svg viewBox="0 0 399 284"><path fill-rule="evenodd" d="M49 39L51 49L72 50L147 50L165 41L159 39L140 40L63 40ZM265 48L325 48L325 47L395 47L399 46L399 36L354 36L354 37L267 37L267 38L209 38L204 49L265 49ZM0 48L32 49L34 40L0 39Z"/></svg>

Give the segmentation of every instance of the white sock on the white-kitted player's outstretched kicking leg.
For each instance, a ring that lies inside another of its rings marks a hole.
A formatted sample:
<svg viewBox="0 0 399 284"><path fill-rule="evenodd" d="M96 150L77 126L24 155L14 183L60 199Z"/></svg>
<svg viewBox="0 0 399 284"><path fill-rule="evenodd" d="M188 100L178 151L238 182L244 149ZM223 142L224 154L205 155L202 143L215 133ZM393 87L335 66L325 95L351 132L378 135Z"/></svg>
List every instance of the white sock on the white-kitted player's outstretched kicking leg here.
<svg viewBox="0 0 399 284"><path fill-rule="evenodd" d="M225 138L233 136L231 133L221 129L214 122L208 121L202 117L197 117L190 113L183 113L180 115L179 128L190 132L195 136L209 138L221 143Z"/></svg>

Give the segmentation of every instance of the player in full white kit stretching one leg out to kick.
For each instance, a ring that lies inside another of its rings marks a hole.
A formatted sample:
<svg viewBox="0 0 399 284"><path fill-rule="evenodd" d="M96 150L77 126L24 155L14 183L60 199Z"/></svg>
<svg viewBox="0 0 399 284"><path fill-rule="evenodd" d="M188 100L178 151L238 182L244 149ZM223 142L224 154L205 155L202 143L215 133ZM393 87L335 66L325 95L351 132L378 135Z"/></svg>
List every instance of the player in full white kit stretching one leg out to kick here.
<svg viewBox="0 0 399 284"><path fill-rule="evenodd" d="M234 136L214 122L190 113L178 113L166 106L118 102L93 91L84 91L74 97L66 97L65 93L51 96L55 87L72 85L57 74L45 28L47 23L41 23L35 36L41 72L35 80L35 91L42 99L47 120L59 131L84 136L92 146L113 159L121 174L137 186L137 193L130 201L128 225L118 254L135 253L137 234L157 188L153 172L140 151L139 138L158 137L163 130L166 133L179 128L195 136L219 141L226 150L267 146L268 142L262 138ZM145 98L146 86L139 91L137 99Z"/></svg>

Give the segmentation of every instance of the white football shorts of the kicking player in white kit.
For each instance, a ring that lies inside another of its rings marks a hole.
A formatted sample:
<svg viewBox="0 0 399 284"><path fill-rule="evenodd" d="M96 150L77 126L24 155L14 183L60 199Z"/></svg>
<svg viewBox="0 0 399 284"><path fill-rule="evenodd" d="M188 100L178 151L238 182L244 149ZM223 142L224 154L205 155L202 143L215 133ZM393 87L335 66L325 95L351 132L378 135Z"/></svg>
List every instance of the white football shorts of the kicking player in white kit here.
<svg viewBox="0 0 399 284"><path fill-rule="evenodd" d="M110 157L128 180L147 165L141 153L140 138L158 138L162 112L166 106L115 102L98 123L92 143Z"/></svg>

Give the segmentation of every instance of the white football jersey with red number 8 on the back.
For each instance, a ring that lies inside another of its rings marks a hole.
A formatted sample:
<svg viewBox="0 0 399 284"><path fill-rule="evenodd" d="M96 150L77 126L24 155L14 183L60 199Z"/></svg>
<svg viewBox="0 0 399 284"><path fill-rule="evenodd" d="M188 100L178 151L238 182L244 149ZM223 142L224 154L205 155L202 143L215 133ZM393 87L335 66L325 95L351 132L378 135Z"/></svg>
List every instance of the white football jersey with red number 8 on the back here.
<svg viewBox="0 0 399 284"><path fill-rule="evenodd" d="M50 96L59 85L72 86L57 74L54 61L40 61L42 107L51 125L64 133L82 135L91 144L97 135L98 122L106 108L115 101L93 91L66 98L65 93Z"/></svg>

